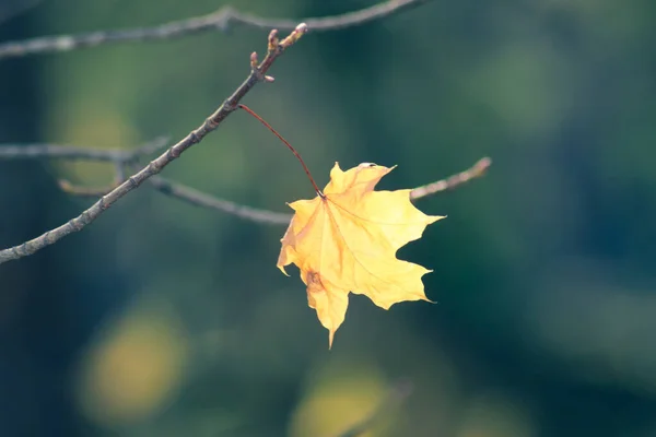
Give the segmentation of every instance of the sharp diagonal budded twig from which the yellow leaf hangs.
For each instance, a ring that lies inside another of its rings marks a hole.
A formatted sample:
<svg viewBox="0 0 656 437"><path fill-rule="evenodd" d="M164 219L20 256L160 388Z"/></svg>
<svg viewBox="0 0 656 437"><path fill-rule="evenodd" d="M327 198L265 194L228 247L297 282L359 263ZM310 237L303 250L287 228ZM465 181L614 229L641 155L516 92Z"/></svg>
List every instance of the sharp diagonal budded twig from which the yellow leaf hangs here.
<svg viewBox="0 0 656 437"><path fill-rule="evenodd" d="M219 125L237 108L239 101L261 80L265 73L271 68L276 59L280 57L286 48L296 43L307 31L305 23L301 23L296 28L283 40L278 39L277 31L271 31L268 40L267 56L261 63L251 68L248 78L237 87L237 90L212 114L204 122L192 130L187 137L174 144L160 157L151 161L151 163L142 168L137 174L130 176L124 184L118 186L112 192L103 196L91 208L82 212L79 216L71 218L66 224L46 232L39 237L30 241L25 241L19 246L9 249L0 250L0 263L16 260L30 256L37 250L49 246L59 239L74 232L82 231L86 225L96 220L103 212L110 208L115 202L120 200L128 192L139 187L144 180L153 175L162 172L164 167L178 158L183 152L199 143L208 133L215 130ZM251 60L255 59L251 56Z"/></svg>

